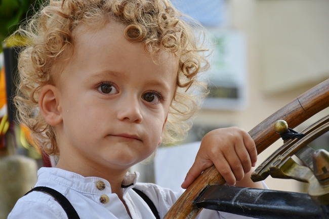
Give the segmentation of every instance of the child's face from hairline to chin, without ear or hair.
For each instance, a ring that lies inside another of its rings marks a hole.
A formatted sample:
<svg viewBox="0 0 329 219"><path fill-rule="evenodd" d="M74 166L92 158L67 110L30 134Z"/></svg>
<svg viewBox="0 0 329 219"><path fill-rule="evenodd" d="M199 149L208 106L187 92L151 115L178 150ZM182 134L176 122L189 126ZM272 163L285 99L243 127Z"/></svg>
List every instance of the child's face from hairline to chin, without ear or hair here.
<svg viewBox="0 0 329 219"><path fill-rule="evenodd" d="M59 162L79 168L127 169L161 142L176 90L177 60L144 51L111 22L76 30L74 54L56 86L62 122L56 126ZM68 161L66 160L66 161Z"/></svg>

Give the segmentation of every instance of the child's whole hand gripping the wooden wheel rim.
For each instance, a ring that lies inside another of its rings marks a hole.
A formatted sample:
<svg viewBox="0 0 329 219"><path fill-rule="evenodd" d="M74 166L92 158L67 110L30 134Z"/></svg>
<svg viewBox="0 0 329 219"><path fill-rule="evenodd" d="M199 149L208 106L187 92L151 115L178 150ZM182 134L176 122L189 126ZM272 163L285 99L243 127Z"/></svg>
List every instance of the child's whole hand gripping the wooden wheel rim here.
<svg viewBox="0 0 329 219"><path fill-rule="evenodd" d="M213 130L203 137L182 188L186 189L202 171L213 164L228 185L235 185L256 165L256 161L255 142L245 130L237 127Z"/></svg>

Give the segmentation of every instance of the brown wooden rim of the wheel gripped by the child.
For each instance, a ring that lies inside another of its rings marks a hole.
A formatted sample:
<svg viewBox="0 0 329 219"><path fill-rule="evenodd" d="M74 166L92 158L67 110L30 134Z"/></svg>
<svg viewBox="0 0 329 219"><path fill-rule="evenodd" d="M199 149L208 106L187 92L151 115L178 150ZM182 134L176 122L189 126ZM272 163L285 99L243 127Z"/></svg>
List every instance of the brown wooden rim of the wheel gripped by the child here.
<svg viewBox="0 0 329 219"><path fill-rule="evenodd" d="M329 79L314 86L250 130L249 135L255 141L258 154L280 138L273 128L275 121L285 120L289 127L294 128L314 114L327 108L329 106L328 98ZM214 165L209 167L186 189L163 218L195 218L201 210L193 203L199 193L208 185L223 184L225 184L225 180L216 167Z"/></svg>

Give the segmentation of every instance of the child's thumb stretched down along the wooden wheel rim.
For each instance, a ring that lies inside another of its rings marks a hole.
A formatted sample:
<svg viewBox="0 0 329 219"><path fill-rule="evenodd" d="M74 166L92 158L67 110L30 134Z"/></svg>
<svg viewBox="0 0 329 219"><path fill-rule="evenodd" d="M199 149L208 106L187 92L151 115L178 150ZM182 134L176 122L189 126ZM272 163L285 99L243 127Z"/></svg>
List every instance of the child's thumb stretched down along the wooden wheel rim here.
<svg viewBox="0 0 329 219"><path fill-rule="evenodd" d="M181 187L183 189L189 187L194 182L194 180L200 176L201 172L203 172L208 167L211 167L213 164L214 163L211 160L204 160L199 158L199 156L196 156L195 161L190 170L188 170Z"/></svg>

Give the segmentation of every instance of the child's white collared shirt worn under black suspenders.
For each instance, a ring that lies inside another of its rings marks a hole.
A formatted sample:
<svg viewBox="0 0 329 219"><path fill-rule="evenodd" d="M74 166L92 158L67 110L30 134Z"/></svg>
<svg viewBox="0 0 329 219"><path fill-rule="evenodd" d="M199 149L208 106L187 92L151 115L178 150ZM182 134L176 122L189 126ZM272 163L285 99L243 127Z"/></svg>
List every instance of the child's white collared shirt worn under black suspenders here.
<svg viewBox="0 0 329 219"><path fill-rule="evenodd" d="M136 183L139 173L127 173L122 185L124 200L133 219L155 219L151 209L132 188L143 191L154 203L160 218L166 215L170 207L181 194L161 188L150 183ZM97 182L102 181L105 189L99 190ZM130 219L129 214L115 193L111 193L108 181L98 177L83 177L77 173L59 168L43 167L38 170L38 181L35 185L46 186L63 194L72 204L81 219L106 218ZM100 202L100 196L109 197L107 203ZM62 206L50 195L44 192L31 192L20 198L14 206L8 219L65 218L67 215ZM203 209L197 218L242 219L245 216Z"/></svg>

